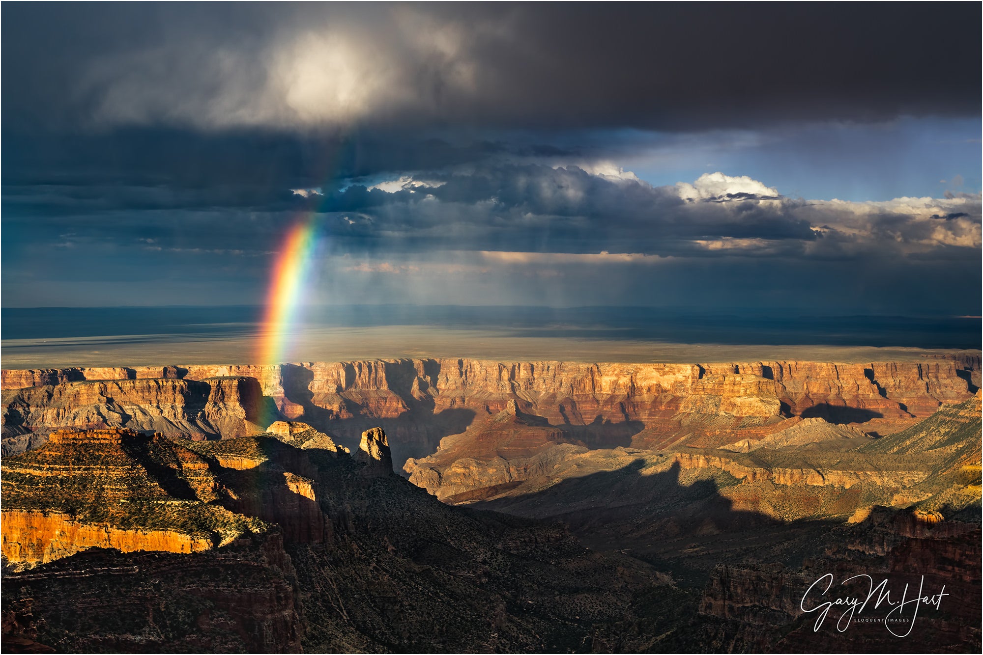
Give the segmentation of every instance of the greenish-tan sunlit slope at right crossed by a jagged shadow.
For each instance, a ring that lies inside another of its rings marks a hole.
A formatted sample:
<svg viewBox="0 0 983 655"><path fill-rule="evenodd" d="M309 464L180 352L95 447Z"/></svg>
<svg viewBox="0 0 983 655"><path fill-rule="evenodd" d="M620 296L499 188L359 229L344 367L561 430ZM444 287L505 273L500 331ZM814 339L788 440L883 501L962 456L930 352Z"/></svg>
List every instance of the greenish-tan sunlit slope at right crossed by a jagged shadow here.
<svg viewBox="0 0 983 655"><path fill-rule="evenodd" d="M407 467L411 481L447 503L595 527L638 525L651 535L691 516L707 521L699 529L714 530L722 528L715 521L739 513L856 521L875 505L966 519L979 512L980 413L977 394L880 439L838 437L749 453L555 444L528 458L454 457L434 465L434 457ZM824 447L829 442L835 447Z"/></svg>

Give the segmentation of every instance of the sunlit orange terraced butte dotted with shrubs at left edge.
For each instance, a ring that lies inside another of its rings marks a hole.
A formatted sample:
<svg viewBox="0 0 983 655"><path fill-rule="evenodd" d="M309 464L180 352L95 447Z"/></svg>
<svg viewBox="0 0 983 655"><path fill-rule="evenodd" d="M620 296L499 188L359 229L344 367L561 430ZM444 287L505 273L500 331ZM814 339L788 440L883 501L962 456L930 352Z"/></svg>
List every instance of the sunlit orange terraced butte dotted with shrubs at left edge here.
<svg viewBox="0 0 983 655"><path fill-rule="evenodd" d="M221 485L207 461L159 434L54 432L0 466L0 550L16 568L88 548L191 553L267 530L213 504Z"/></svg>

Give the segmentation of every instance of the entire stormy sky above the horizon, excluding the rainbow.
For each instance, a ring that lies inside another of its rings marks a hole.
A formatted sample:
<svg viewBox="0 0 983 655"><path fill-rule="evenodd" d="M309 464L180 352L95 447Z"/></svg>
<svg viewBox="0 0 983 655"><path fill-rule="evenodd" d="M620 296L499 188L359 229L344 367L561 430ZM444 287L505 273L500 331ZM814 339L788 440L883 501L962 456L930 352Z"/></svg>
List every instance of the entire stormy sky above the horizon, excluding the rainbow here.
<svg viewBox="0 0 983 655"><path fill-rule="evenodd" d="M979 3L14 3L2 306L981 313Z"/></svg>

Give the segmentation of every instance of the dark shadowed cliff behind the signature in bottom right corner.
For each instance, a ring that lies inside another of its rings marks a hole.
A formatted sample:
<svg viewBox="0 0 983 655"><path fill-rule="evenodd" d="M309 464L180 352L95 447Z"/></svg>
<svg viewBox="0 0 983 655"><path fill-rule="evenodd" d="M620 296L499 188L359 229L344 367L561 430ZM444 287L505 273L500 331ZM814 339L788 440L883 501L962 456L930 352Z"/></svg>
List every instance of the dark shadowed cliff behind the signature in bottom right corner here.
<svg viewBox="0 0 983 655"><path fill-rule="evenodd" d="M807 558L801 569L719 565L699 604L704 642L721 652L979 650L978 524L880 508L862 523L830 532L822 552ZM810 589L824 575L834 578L829 593L823 593L823 584ZM854 575L859 577L850 580ZM843 596L862 602L871 586L882 581L893 604L875 607L875 592L869 603L853 612L856 621L849 620L848 605L835 605L820 616L822 603ZM917 613L911 608L898 613L905 585L926 597L944 589L946 596L939 599L938 608L923 603ZM892 610L892 618L904 620L892 624L895 633L885 622Z"/></svg>

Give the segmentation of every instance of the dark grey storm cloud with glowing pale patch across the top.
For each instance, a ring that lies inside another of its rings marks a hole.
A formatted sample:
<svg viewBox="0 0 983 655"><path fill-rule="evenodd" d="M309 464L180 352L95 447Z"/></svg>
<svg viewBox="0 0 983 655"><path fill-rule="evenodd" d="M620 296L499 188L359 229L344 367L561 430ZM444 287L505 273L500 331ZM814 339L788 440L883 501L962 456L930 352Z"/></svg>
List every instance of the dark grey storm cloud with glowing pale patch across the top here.
<svg viewBox="0 0 983 655"><path fill-rule="evenodd" d="M3 17L7 129L691 130L979 110L978 3L6 3Z"/></svg>

